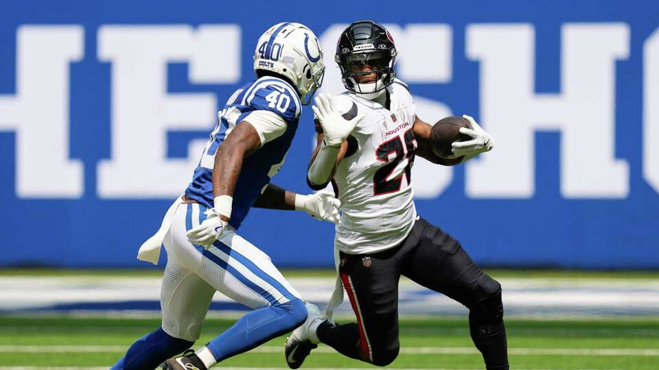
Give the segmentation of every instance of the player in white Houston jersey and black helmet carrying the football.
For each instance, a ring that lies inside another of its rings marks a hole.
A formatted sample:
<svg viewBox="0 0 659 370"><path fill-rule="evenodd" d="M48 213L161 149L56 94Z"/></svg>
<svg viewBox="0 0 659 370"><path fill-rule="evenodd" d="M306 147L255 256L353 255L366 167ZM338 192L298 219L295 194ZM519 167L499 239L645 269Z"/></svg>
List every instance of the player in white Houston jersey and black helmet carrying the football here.
<svg viewBox="0 0 659 370"><path fill-rule="evenodd" d="M437 156L431 126L416 115L406 84L395 79L396 56L393 38L382 25L352 23L341 34L335 57L349 91L316 97L318 146L308 182L312 188L332 182L341 201L334 247L357 323L336 325L327 319L343 301L338 282L325 315L307 305L308 319L286 342L286 361L297 369L322 342L345 356L389 365L399 351L397 288L404 275L469 308L472 340L486 368L508 369L500 284L457 240L417 216L411 186L415 155L458 164L492 149L492 137L465 116L472 128L460 130L472 140L453 143L451 158Z"/></svg>

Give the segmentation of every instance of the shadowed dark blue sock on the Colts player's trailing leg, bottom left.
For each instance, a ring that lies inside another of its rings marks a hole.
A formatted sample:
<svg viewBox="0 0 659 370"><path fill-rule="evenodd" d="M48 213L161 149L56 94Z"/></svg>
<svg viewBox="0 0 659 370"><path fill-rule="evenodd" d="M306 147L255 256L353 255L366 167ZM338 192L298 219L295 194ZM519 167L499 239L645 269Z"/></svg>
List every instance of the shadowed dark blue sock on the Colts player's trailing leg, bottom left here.
<svg viewBox="0 0 659 370"><path fill-rule="evenodd" d="M111 368L111 370L143 370L155 369L162 362L176 354L180 354L194 342L174 338L165 333L163 328L146 334L132 343L126 356Z"/></svg>

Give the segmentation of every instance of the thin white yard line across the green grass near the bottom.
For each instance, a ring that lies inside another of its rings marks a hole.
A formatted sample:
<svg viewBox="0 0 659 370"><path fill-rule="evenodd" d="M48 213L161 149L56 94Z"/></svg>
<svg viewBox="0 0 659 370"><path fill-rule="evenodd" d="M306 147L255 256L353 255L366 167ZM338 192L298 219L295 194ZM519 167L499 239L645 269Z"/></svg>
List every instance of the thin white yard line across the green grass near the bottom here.
<svg viewBox="0 0 659 370"><path fill-rule="evenodd" d="M83 352L123 352L126 346L119 345L0 345L2 352L29 352L29 353L83 353ZM252 352L273 354L283 352L284 347L262 346L251 350ZM314 349L316 353L336 353L329 347ZM424 355L424 354L478 354L478 350L472 347L406 347L400 349L401 354ZM629 349L606 349L606 348L509 348L508 353L518 356L659 356L656 348L629 348ZM1 368L0 368L1 369Z"/></svg>

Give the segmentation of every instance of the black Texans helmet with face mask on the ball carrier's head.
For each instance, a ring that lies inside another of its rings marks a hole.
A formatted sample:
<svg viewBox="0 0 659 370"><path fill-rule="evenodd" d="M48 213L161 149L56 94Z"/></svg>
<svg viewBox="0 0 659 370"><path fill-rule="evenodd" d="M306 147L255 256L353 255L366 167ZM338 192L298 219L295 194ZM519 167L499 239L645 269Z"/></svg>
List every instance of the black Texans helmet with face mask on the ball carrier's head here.
<svg viewBox="0 0 659 370"><path fill-rule="evenodd" d="M393 83L396 56L393 38L384 27L373 21L359 21L341 34L334 60L345 88L369 94L378 93Z"/></svg>

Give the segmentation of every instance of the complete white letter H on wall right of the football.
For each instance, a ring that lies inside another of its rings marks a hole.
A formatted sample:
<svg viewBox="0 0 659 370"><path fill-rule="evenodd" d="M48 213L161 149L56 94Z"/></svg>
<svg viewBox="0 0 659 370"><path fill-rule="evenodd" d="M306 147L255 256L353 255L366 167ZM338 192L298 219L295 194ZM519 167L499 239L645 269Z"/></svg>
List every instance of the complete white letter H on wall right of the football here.
<svg viewBox="0 0 659 370"><path fill-rule="evenodd" d="M562 93L536 94L531 25L471 25L467 56L481 62L481 123L496 147L467 163L467 195L531 197L535 131L559 131L561 193L622 198L629 166L614 158L615 61L629 55L622 23L562 27Z"/></svg>

